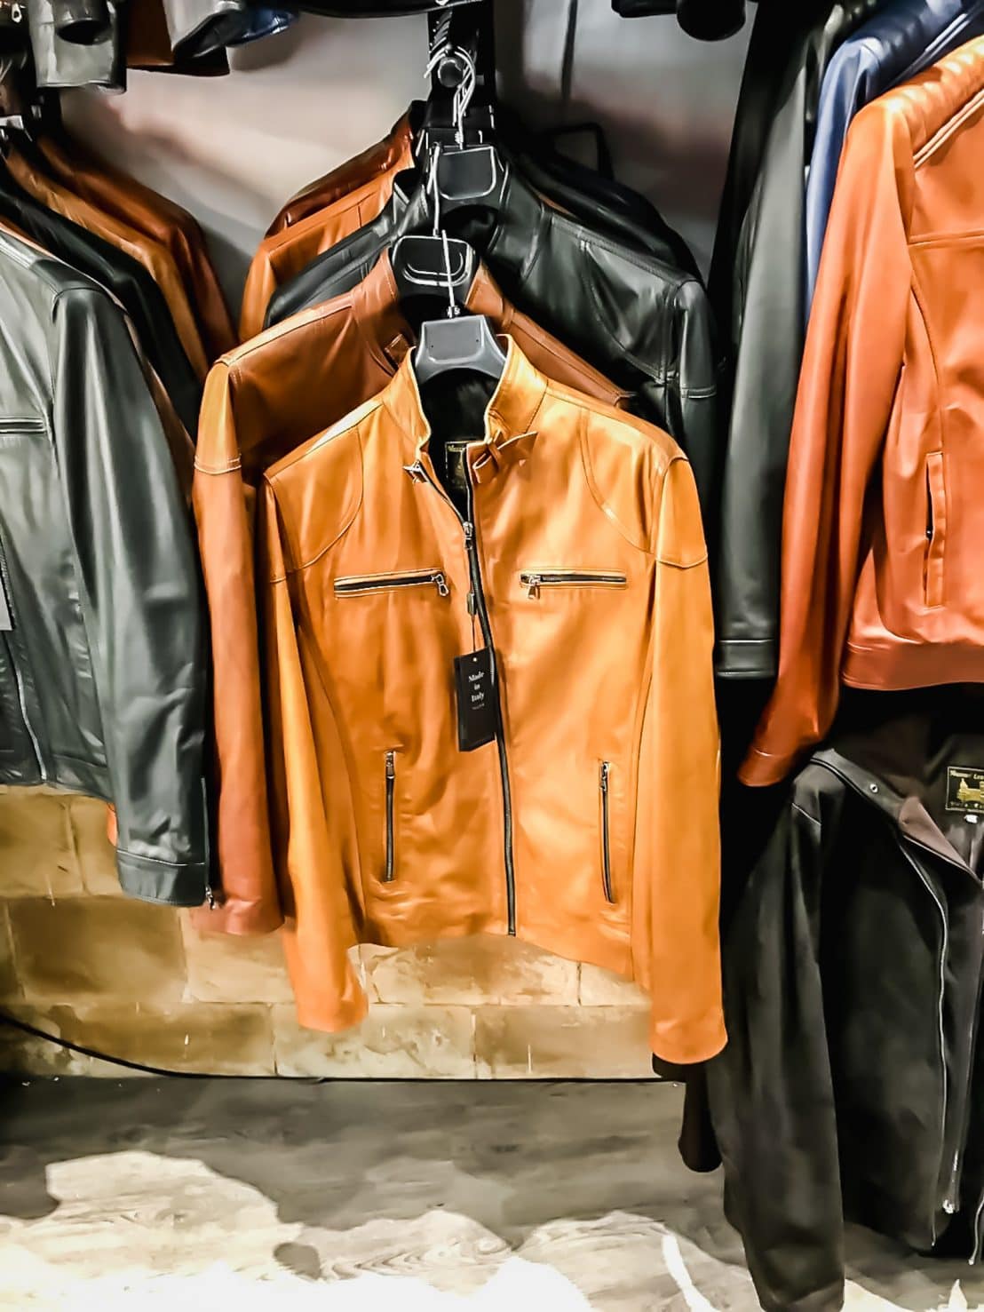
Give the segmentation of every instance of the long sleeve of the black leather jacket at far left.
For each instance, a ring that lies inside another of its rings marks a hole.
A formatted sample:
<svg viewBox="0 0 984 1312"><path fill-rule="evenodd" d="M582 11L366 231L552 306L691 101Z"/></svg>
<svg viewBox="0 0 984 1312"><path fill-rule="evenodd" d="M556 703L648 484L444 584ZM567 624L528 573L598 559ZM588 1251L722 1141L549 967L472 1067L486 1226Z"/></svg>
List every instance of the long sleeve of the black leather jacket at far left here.
<svg viewBox="0 0 984 1312"><path fill-rule="evenodd" d="M192 523L129 327L96 289L55 308L52 426L117 813L135 897L207 887L207 660Z"/></svg>

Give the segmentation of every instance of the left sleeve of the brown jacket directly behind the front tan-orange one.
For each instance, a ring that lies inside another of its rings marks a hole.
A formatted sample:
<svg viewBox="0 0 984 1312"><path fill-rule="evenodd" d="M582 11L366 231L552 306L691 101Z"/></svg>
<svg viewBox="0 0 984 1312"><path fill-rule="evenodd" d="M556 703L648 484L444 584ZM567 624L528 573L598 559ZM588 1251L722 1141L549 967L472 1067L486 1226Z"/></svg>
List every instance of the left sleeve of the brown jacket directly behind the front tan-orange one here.
<svg viewBox="0 0 984 1312"><path fill-rule="evenodd" d="M256 491L243 479L235 382L219 361L205 386L193 483L209 601L215 733L216 865L220 904L202 909L209 933L256 934L283 922L270 851L256 619Z"/></svg>

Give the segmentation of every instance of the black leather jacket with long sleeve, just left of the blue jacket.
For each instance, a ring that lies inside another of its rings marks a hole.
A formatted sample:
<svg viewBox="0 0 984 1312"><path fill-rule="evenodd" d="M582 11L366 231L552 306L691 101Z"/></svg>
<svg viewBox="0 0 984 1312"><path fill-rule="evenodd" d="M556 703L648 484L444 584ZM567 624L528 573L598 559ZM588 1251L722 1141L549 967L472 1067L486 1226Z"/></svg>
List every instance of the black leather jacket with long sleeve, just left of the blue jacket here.
<svg viewBox="0 0 984 1312"><path fill-rule="evenodd" d="M824 70L878 0L761 0L741 83L710 294L735 377L716 567L718 673L778 663L786 463L803 359L804 177Z"/></svg>

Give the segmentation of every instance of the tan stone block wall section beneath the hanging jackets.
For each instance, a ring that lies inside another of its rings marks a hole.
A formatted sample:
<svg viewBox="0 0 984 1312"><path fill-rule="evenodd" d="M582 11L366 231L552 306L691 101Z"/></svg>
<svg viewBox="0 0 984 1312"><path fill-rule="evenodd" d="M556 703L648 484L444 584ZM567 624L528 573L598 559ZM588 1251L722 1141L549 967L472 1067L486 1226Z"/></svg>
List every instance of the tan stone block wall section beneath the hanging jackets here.
<svg viewBox="0 0 984 1312"><path fill-rule="evenodd" d="M0 1010L168 1071L379 1078L643 1078L647 1002L589 966L495 938L362 947L369 1018L297 1023L277 935L199 935L119 892L105 807L0 790ZM0 1069L121 1068L0 1023Z"/></svg>

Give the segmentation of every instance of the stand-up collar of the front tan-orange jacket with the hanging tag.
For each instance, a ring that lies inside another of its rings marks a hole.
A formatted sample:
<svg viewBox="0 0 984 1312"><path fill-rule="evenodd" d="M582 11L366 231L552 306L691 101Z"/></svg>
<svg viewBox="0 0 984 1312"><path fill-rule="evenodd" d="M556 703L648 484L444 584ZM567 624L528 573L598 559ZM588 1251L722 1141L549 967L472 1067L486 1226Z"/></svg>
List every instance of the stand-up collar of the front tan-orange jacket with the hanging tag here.
<svg viewBox="0 0 984 1312"><path fill-rule="evenodd" d="M482 438L476 437L468 451L471 470L479 483L495 478L502 466L526 459L537 440L537 415L547 392L546 378L523 356L514 338L502 340L508 344L502 377L485 407L485 432ZM426 454L430 424L413 374L412 354L405 357L384 388L382 400L409 441L411 461L419 461Z"/></svg>

